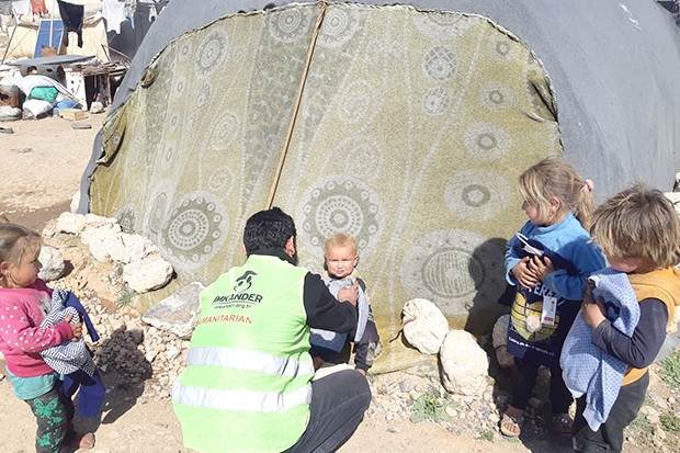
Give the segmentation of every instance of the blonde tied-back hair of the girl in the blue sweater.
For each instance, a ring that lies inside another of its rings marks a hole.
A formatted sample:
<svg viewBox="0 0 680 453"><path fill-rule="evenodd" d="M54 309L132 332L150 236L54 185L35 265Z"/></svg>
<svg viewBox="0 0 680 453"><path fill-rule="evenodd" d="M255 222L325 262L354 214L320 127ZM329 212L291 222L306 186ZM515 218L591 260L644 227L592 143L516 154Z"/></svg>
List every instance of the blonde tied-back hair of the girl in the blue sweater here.
<svg viewBox="0 0 680 453"><path fill-rule="evenodd" d="M588 229L594 201L586 180L566 160L548 157L531 166L520 174L519 189L528 203L539 206L541 215L547 215L554 196Z"/></svg>

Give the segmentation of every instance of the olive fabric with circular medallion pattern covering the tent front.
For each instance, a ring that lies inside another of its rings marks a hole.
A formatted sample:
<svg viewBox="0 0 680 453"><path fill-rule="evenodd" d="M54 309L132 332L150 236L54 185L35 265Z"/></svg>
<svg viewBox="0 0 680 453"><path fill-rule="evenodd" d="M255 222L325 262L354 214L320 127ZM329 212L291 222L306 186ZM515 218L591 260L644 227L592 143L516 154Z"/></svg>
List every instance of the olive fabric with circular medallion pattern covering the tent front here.
<svg viewBox="0 0 680 453"><path fill-rule="evenodd" d="M180 36L106 121L91 209L155 241L179 281L242 262L320 12L234 14ZM517 177L558 154L545 70L509 32L454 12L330 4L273 205L294 216L313 270L326 237L358 238L383 339L415 297L481 331L505 286L499 238L523 222Z"/></svg>

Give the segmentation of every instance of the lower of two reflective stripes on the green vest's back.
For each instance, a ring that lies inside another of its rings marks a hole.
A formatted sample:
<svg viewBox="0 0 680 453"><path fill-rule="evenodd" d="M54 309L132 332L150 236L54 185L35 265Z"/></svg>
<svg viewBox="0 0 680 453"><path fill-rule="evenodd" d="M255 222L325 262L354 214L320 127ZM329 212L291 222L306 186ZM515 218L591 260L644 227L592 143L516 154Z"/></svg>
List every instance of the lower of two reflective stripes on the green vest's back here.
<svg viewBox="0 0 680 453"><path fill-rule="evenodd" d="M306 385L285 394L276 392L223 390L191 387L179 380L172 385L172 400L181 405L205 409L238 410L243 412L285 412L311 401L311 386Z"/></svg>

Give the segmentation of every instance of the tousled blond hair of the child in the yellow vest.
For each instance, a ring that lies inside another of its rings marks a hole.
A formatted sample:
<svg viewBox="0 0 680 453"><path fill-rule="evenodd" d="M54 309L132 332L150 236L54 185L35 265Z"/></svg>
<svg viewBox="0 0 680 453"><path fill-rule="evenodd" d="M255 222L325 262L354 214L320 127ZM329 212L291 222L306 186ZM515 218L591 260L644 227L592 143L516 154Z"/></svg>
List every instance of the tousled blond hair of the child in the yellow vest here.
<svg viewBox="0 0 680 453"><path fill-rule="evenodd" d="M659 268L680 262L680 218L661 191L643 183L598 206L590 235L605 256L646 258Z"/></svg>

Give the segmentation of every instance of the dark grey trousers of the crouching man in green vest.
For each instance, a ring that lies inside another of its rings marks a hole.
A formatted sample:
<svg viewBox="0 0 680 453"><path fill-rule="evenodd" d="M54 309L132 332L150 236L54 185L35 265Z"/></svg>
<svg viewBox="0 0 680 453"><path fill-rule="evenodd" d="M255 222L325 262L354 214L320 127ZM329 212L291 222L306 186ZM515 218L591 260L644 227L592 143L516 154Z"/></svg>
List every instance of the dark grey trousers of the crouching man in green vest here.
<svg viewBox="0 0 680 453"><path fill-rule="evenodd" d="M309 423L285 453L330 453L354 433L371 405L366 377L344 370L311 382Z"/></svg>

